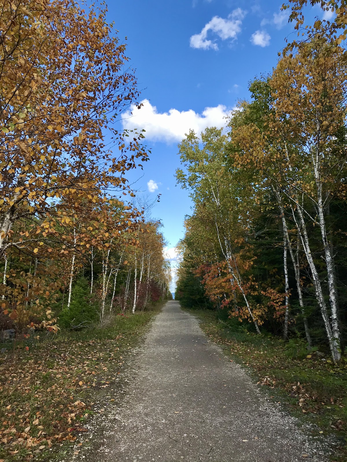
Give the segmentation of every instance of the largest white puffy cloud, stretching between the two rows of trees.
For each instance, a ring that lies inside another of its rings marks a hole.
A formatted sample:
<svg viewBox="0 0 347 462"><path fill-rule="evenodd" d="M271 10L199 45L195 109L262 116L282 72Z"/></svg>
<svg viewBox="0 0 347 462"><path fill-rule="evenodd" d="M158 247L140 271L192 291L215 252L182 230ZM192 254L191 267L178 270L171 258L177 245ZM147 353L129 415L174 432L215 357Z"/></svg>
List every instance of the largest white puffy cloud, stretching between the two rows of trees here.
<svg viewBox="0 0 347 462"><path fill-rule="evenodd" d="M206 127L221 128L225 125L225 117L231 111L222 104L213 108L205 108L201 114L189 109L179 111L170 109L168 112L158 112L155 106L144 99L141 109L132 105L130 111L122 115L125 129L145 129L146 139L153 141L177 142L192 129L200 134ZM132 114L131 114L132 113Z"/></svg>

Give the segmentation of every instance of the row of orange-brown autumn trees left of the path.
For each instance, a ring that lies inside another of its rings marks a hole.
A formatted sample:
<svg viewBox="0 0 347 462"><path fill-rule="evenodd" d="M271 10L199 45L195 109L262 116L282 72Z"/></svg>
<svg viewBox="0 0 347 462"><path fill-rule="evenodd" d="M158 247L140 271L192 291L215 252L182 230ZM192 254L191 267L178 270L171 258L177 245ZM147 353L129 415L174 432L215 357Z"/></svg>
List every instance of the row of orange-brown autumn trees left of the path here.
<svg viewBox="0 0 347 462"><path fill-rule="evenodd" d="M104 324L168 294L160 225L126 179L148 152L118 129L139 92L106 12L1 2L0 327L17 334Z"/></svg>

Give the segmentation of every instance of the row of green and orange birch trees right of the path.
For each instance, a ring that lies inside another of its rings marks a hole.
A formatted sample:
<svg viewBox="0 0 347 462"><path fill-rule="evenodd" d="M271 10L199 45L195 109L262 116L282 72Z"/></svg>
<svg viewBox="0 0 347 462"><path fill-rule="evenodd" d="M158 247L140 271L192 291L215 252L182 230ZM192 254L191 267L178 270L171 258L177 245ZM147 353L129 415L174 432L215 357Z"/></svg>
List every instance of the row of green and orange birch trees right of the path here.
<svg viewBox="0 0 347 462"><path fill-rule="evenodd" d="M180 242L176 298L229 310L254 332L299 335L341 359L346 340L346 15L304 23L226 128L190 132L178 183L193 213Z"/></svg>

